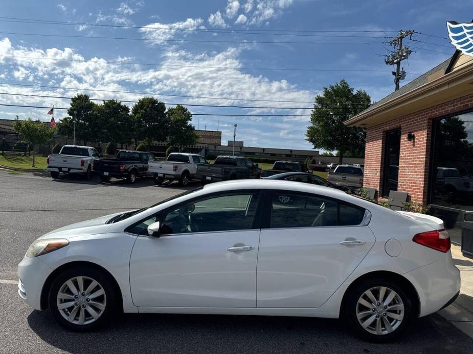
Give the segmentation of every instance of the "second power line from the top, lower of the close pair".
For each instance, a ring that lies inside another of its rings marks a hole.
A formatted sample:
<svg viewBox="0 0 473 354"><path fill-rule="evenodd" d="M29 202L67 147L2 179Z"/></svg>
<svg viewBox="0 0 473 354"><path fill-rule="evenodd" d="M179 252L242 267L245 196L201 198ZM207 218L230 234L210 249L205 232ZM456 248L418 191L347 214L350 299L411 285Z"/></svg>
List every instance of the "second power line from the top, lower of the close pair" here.
<svg viewBox="0 0 473 354"><path fill-rule="evenodd" d="M61 22L61 21L41 21L41 20L8 20L1 19L0 22L14 22L14 23L32 23L32 24L59 24L69 26L85 26L85 27L108 27L108 28L134 28L143 30L156 30L156 31L190 31L190 32L204 32L204 33L226 33L226 34L244 34L244 35L265 35L265 36L300 36L300 37L348 37L348 38L389 38L389 36L359 36L359 35L340 35L340 34L300 34L300 33L278 33L282 31L265 30L265 32L257 32L261 30L224 30L224 29L200 29L200 28L176 28L171 26L166 27L152 27L152 26L116 26L114 24L98 24L98 23L86 23L86 22ZM253 31L253 32L250 32ZM270 31L270 32L266 32ZM293 32L293 31L286 31ZM325 31L323 31L325 32ZM332 31L326 31L328 33ZM342 32L342 31L341 31ZM346 33L350 33L347 31Z"/></svg>

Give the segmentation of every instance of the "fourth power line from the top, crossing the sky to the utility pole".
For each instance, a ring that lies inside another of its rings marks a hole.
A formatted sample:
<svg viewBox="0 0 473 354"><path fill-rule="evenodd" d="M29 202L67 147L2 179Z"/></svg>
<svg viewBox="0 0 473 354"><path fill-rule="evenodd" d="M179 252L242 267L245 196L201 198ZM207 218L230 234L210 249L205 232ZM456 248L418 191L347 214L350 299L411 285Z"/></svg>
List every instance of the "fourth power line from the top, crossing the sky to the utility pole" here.
<svg viewBox="0 0 473 354"><path fill-rule="evenodd" d="M156 67L189 67L201 69L228 69L228 70L267 70L267 71L322 71L322 72L387 72L386 70L363 70L363 69L307 69L307 68L245 68L238 66L200 66L200 65L182 65L182 64L155 64L155 63L141 63L141 62L124 62L124 61L100 61L100 60L85 60L85 59L62 59L62 58L40 58L17 55L0 55L2 58L20 58L20 59L34 59L34 60L56 60L79 63L99 63L99 64L114 64L114 65L143 65ZM413 73L414 74L414 73ZM414 74L418 75L418 74Z"/></svg>

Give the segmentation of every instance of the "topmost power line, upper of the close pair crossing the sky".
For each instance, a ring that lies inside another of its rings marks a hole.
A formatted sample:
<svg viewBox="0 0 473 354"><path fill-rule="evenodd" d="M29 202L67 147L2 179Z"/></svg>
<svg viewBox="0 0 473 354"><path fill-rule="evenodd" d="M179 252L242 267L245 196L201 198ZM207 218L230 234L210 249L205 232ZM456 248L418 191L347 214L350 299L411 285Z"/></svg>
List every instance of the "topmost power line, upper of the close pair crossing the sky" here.
<svg viewBox="0 0 473 354"><path fill-rule="evenodd" d="M248 31L253 31L253 32L295 32L295 33L301 33L301 32L321 32L321 33L386 33L386 32L397 32L397 31L392 31L392 30L261 30L261 29L249 29L249 30L240 30L240 29L215 29L215 28L209 28L209 29L193 29L193 28L174 28L172 26L166 26L163 25L161 27L153 27L153 26L131 26L131 25L126 25L126 24L105 24L105 23L87 23L87 22L65 22L65 21L53 21L53 20L40 20L40 19L34 19L34 18L19 18L19 17L5 17L5 16L0 16L2 19L7 19L7 20L20 20L20 21L33 21L32 23L45 23L45 24L66 24L66 25L73 25L73 26L91 26L91 27L111 27L111 28L134 28L134 29L150 29L150 30L173 30L173 31L209 31L209 32L222 32L222 31L227 31L227 32L248 32ZM14 22L14 21L12 21ZM29 22L27 22L29 23Z"/></svg>

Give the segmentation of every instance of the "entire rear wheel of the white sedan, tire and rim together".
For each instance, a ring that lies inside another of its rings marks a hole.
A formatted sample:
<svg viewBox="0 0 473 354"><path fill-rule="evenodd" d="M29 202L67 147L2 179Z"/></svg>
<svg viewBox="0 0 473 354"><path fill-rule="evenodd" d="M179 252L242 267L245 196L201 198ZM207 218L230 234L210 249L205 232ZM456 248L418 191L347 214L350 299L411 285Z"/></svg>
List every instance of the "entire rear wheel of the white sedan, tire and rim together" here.
<svg viewBox="0 0 473 354"><path fill-rule="evenodd" d="M345 304L350 328L372 342L389 342L399 336L415 318L414 310L409 293L387 279L356 285Z"/></svg>

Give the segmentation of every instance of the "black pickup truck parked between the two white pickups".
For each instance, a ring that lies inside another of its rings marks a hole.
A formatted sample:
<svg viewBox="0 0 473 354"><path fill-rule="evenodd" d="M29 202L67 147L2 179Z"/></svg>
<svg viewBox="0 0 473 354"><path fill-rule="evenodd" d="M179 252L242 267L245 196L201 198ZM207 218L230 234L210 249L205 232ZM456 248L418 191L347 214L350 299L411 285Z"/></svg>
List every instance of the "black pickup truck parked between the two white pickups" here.
<svg viewBox="0 0 473 354"><path fill-rule="evenodd" d="M95 161L93 170L99 174L102 182L108 182L114 177L134 183L139 177L151 176L148 172L148 161L154 160L154 156L150 153L120 150L114 159Z"/></svg>

